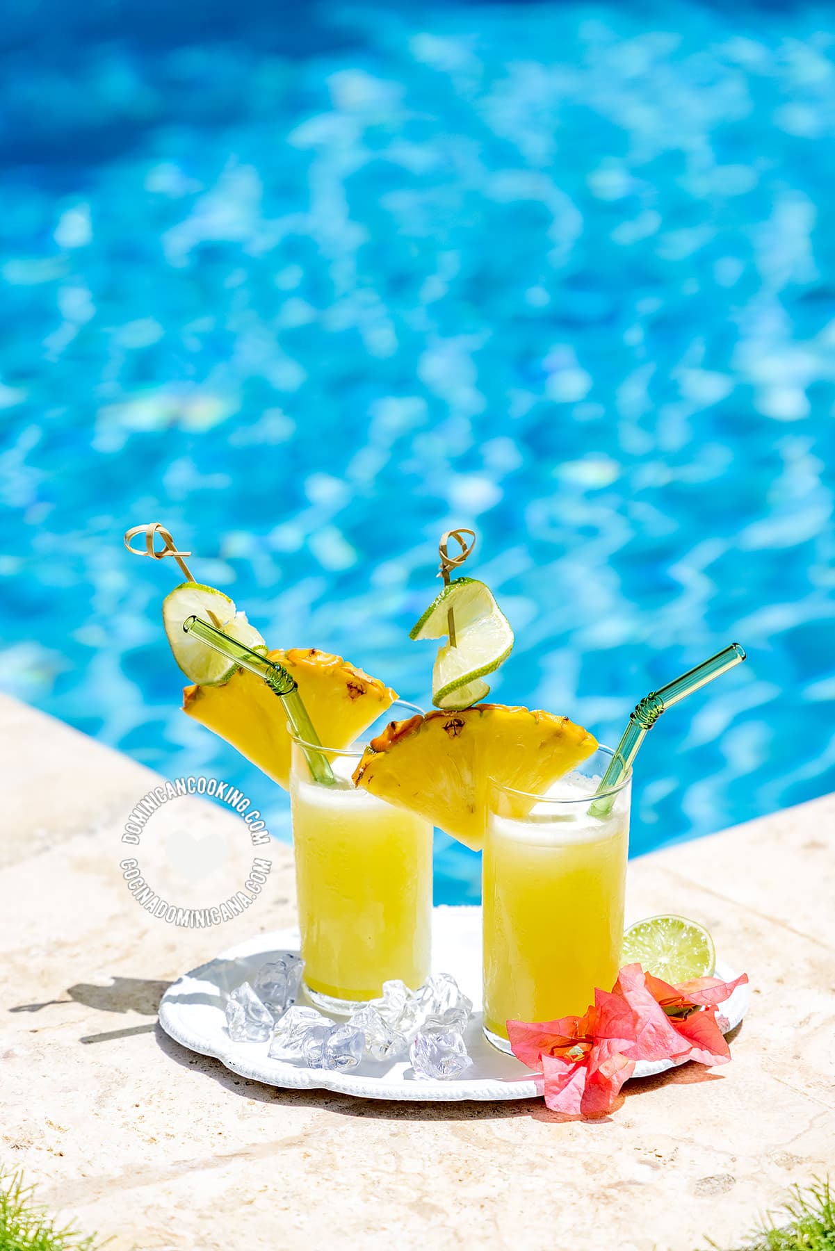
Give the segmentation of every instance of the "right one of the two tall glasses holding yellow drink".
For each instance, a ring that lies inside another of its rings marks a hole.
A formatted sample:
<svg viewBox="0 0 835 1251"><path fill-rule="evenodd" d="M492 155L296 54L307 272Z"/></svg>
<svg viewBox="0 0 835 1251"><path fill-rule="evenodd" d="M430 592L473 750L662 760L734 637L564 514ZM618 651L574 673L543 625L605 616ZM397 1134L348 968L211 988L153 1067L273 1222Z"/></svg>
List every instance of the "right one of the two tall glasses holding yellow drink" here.
<svg viewBox="0 0 835 1251"><path fill-rule="evenodd" d="M510 1051L507 1021L581 1016L611 991L623 937L631 773L605 817L591 797L612 752L598 748L545 796L493 781L483 853L484 1033Z"/></svg>

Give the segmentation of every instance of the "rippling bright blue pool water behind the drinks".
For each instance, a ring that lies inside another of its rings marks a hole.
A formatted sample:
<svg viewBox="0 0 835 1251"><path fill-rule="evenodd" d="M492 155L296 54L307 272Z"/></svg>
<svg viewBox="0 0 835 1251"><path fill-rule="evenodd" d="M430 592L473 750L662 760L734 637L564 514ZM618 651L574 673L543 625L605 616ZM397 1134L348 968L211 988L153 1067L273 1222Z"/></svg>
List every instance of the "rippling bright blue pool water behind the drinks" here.
<svg viewBox="0 0 835 1251"><path fill-rule="evenodd" d="M0 683L287 803L178 711L161 519L274 646L428 702L441 530L503 701L641 754L637 853L835 789L835 39L820 5L13 3ZM438 849L442 899L477 863Z"/></svg>

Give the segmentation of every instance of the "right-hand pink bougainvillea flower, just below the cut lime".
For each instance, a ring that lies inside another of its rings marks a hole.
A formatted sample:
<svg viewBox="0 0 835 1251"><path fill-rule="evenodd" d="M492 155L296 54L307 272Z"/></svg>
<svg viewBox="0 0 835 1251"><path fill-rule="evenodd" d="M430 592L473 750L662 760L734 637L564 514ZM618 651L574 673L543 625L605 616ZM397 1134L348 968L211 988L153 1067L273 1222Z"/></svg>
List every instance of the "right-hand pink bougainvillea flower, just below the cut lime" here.
<svg viewBox="0 0 835 1251"><path fill-rule="evenodd" d="M742 982L747 982L746 973L732 982L700 977L670 986L645 973L640 965L626 965L617 976L615 993L623 996L638 1018L635 1046L627 1048L626 1055L635 1060L726 1065L731 1052L716 1021L716 1005L729 998ZM702 1011L694 1012L694 1008Z"/></svg>

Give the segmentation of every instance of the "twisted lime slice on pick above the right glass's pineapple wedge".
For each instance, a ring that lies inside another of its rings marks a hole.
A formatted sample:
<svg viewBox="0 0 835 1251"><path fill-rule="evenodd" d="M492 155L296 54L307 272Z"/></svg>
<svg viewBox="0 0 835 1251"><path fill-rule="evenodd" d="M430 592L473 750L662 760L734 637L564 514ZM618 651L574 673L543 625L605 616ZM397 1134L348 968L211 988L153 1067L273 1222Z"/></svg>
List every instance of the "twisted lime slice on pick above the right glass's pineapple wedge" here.
<svg viewBox="0 0 835 1251"><path fill-rule="evenodd" d="M513 631L492 592L476 578L456 578L433 599L409 638L443 638L448 613L456 620L456 647L444 643L432 672L432 703L438 708L468 708L489 693L481 679L506 661Z"/></svg>

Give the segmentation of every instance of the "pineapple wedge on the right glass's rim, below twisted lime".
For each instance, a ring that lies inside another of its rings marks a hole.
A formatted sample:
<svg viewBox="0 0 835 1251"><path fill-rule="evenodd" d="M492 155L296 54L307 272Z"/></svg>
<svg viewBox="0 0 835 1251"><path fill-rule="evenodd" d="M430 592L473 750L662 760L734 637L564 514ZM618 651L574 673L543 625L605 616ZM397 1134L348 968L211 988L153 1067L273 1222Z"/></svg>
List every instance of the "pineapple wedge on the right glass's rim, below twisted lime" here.
<svg viewBox="0 0 835 1251"><path fill-rule="evenodd" d="M567 717L476 704L391 722L371 741L353 777L479 851L488 778L541 794L596 748L597 739Z"/></svg>

